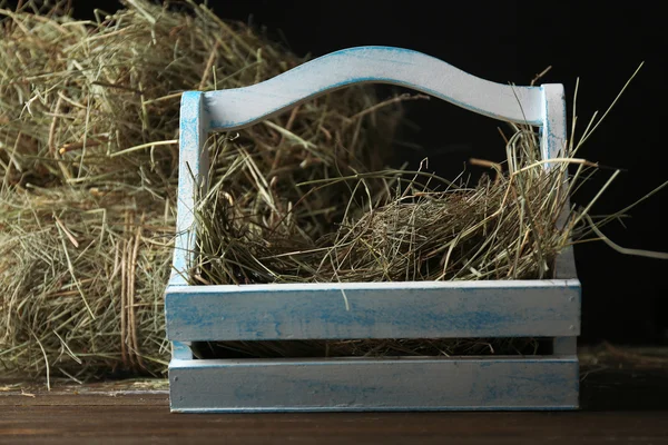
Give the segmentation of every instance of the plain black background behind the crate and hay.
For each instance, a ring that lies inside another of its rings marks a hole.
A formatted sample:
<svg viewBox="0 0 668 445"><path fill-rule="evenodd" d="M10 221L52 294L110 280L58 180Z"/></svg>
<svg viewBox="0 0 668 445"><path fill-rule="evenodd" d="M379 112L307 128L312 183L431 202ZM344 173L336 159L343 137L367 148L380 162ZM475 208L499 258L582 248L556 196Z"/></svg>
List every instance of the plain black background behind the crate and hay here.
<svg viewBox="0 0 668 445"><path fill-rule="evenodd" d="M580 78L580 131L596 110L607 109L644 61L580 154L626 169L593 212L619 210L668 180L668 24L654 2L210 0L208 4L224 19L266 27L271 37L285 39L299 56L363 44L403 47L488 80L515 85L528 85L552 66L541 81L564 85L569 120ZM75 16L91 18L94 8L112 12L120 3L73 0L73 7ZM429 156L430 168L441 175L461 171L471 156L502 159L498 122L438 100L413 101L406 109L406 118L421 129L403 137L425 149L406 149L407 159ZM586 205L607 177L599 175L573 200ZM667 204L664 189L631 211L626 228L612 224L605 231L625 247L668 251ZM625 256L602 243L578 245L576 261L582 283L581 343L668 344L668 261Z"/></svg>

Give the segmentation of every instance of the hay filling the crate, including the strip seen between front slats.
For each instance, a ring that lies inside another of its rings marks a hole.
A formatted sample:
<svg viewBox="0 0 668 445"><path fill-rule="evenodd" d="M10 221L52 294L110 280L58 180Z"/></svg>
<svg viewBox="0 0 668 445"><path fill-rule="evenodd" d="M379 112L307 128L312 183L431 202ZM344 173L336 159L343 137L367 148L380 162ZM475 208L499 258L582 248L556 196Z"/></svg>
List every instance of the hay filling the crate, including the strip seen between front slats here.
<svg viewBox="0 0 668 445"><path fill-rule="evenodd" d="M569 243L568 228L557 225L568 202L559 187L566 170L537 165L534 128L512 129L510 171L490 165L492 175L473 186L425 170L367 170L357 159L365 146L324 154L294 144L272 156L246 149L243 136L214 138L207 147L213 186L198 199L190 284L553 278ZM317 158L317 167L305 167L305 156ZM193 350L198 358L538 355L550 354L551 344L531 337L262 340L194 343Z"/></svg>

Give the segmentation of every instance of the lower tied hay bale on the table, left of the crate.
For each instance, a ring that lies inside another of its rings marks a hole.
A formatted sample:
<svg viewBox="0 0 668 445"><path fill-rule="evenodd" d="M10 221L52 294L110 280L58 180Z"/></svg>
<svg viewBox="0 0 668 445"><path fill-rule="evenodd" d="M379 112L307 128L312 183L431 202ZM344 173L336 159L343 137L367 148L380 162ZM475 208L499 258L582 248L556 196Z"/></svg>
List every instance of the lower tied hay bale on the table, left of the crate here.
<svg viewBox="0 0 668 445"><path fill-rule="evenodd" d="M159 375L174 221L127 190L51 188L0 204L2 353L13 374Z"/></svg>

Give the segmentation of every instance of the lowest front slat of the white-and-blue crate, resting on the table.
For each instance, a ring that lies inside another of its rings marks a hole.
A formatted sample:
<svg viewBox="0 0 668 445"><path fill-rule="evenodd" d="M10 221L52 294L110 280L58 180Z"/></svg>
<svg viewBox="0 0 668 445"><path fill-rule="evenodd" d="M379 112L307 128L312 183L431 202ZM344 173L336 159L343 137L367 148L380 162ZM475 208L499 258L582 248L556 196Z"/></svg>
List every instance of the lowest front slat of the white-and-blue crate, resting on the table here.
<svg viewBox="0 0 668 445"><path fill-rule="evenodd" d="M576 358L177 360L176 412L574 409Z"/></svg>

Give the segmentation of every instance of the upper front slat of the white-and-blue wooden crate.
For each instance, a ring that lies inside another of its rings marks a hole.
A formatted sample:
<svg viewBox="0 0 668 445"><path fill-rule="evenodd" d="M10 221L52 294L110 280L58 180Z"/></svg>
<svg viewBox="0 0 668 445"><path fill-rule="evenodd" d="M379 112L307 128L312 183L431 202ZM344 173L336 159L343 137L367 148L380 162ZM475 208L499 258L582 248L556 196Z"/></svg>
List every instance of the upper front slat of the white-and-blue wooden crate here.
<svg viewBox="0 0 668 445"><path fill-rule="evenodd" d="M572 336L577 280L176 286L171 340Z"/></svg>

